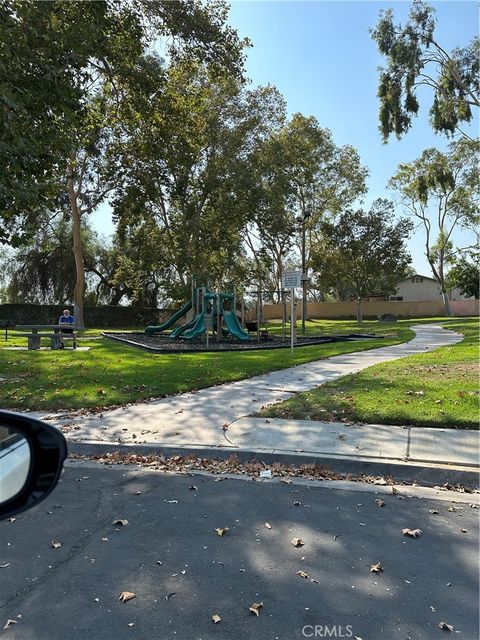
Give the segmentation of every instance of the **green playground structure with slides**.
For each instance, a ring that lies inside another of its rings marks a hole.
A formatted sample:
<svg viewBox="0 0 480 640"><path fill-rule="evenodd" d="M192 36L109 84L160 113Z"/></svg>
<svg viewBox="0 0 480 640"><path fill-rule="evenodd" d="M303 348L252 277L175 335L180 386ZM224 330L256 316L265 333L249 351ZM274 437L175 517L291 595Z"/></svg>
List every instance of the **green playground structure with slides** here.
<svg viewBox="0 0 480 640"><path fill-rule="evenodd" d="M232 336L242 341L250 339L237 318L235 293L210 291L208 286L196 287L195 282L192 283L190 300L163 324L146 327L145 333L162 333L187 314L192 316L191 319L173 329L170 338L196 340L205 336L207 345L210 332L217 341L220 341L222 336Z"/></svg>

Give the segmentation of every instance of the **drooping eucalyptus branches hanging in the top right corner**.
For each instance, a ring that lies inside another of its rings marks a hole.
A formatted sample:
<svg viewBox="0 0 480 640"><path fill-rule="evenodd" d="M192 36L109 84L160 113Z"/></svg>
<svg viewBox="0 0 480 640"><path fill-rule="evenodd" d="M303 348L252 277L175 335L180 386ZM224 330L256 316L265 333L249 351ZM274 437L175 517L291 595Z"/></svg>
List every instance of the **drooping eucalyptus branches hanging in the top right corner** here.
<svg viewBox="0 0 480 640"><path fill-rule="evenodd" d="M412 126L420 107L418 88L433 91L430 107L435 132L462 133L480 107L480 38L447 51L435 34L435 10L414 0L407 23L394 24L392 9L382 11L371 36L387 61L380 69L380 132L384 142L394 133L401 138Z"/></svg>

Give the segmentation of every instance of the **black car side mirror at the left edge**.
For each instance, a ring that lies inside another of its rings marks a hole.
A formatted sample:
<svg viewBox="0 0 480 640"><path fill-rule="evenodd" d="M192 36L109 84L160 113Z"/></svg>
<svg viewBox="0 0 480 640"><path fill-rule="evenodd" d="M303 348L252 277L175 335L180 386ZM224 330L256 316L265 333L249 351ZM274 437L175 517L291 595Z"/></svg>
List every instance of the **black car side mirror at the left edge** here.
<svg viewBox="0 0 480 640"><path fill-rule="evenodd" d="M58 429L26 414L0 411L0 520L44 500L66 456Z"/></svg>

